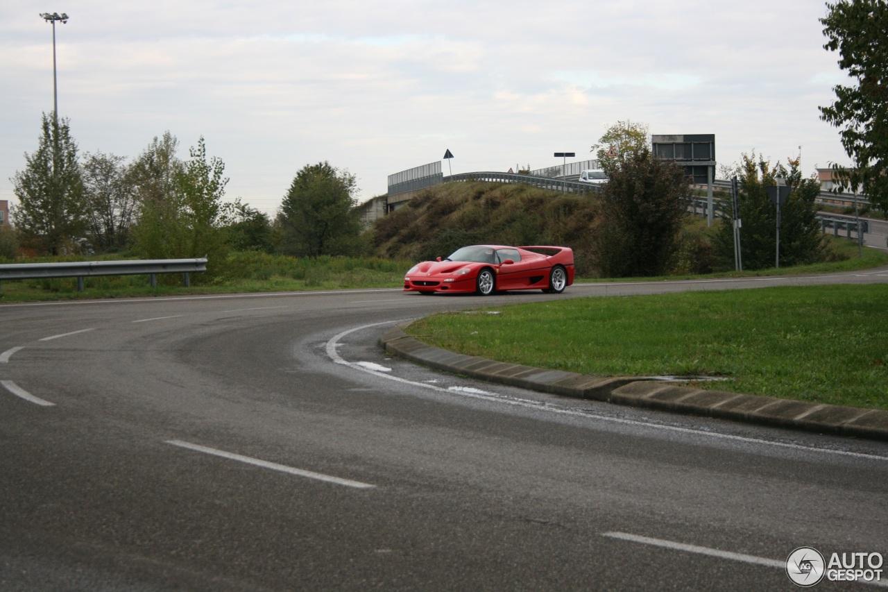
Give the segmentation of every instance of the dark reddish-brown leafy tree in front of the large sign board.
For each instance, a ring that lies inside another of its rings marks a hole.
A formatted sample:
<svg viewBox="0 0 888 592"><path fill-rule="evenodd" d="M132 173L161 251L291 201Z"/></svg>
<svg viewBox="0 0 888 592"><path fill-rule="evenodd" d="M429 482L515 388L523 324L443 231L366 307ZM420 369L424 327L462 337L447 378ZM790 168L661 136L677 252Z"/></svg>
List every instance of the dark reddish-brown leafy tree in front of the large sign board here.
<svg viewBox="0 0 888 592"><path fill-rule="evenodd" d="M678 250L690 190L684 171L650 149L614 162L601 191L596 251L602 276L659 276Z"/></svg>

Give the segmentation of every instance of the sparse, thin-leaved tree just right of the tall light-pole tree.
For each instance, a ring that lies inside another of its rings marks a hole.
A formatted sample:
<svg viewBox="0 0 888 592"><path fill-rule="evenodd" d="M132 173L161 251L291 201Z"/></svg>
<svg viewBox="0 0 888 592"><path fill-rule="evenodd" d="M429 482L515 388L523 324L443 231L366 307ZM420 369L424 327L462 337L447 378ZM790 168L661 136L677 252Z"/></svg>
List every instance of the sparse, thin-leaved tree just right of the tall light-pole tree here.
<svg viewBox="0 0 888 592"><path fill-rule="evenodd" d="M89 234L99 252L117 252L127 246L135 218L136 197L123 156L87 154L83 160Z"/></svg>

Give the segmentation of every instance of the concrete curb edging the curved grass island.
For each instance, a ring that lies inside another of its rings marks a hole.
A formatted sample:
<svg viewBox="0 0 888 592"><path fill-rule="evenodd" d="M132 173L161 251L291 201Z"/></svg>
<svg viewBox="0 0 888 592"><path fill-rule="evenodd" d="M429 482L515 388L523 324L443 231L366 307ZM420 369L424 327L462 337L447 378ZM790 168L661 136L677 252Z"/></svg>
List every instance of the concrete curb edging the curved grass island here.
<svg viewBox="0 0 888 592"><path fill-rule="evenodd" d="M505 364L433 348L410 337L400 326L384 332L379 343L390 354L411 362L511 387L724 420L888 440L888 412L876 409L805 403L771 396L739 395L718 390L677 387L631 377L601 378L575 372Z"/></svg>

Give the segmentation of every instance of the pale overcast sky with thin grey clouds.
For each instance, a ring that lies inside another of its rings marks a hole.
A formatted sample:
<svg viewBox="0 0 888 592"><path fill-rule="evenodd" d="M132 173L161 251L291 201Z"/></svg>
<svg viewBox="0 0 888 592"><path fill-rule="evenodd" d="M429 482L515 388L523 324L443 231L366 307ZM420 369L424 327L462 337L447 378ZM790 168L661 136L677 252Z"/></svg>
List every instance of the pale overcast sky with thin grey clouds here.
<svg viewBox="0 0 888 592"><path fill-rule="evenodd" d="M170 131L206 140L226 198L274 214L296 172L329 161L359 201L387 176L455 156L453 172L593 157L617 120L714 133L719 164L802 152L848 158L818 106L846 80L818 0L102 2L0 4L0 199L52 111L81 154L138 156ZM448 163L443 164L448 174Z"/></svg>

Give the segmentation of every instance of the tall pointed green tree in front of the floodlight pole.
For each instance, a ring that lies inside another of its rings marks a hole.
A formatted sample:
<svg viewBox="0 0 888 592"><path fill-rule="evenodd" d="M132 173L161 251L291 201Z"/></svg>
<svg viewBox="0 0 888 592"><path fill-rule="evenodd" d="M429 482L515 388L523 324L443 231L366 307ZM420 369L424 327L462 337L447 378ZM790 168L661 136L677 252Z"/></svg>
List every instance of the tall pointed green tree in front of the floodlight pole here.
<svg viewBox="0 0 888 592"><path fill-rule="evenodd" d="M67 118L43 115L36 151L12 177L19 206L12 214L21 244L40 254L60 255L76 249L86 228L83 180L77 144Z"/></svg>

